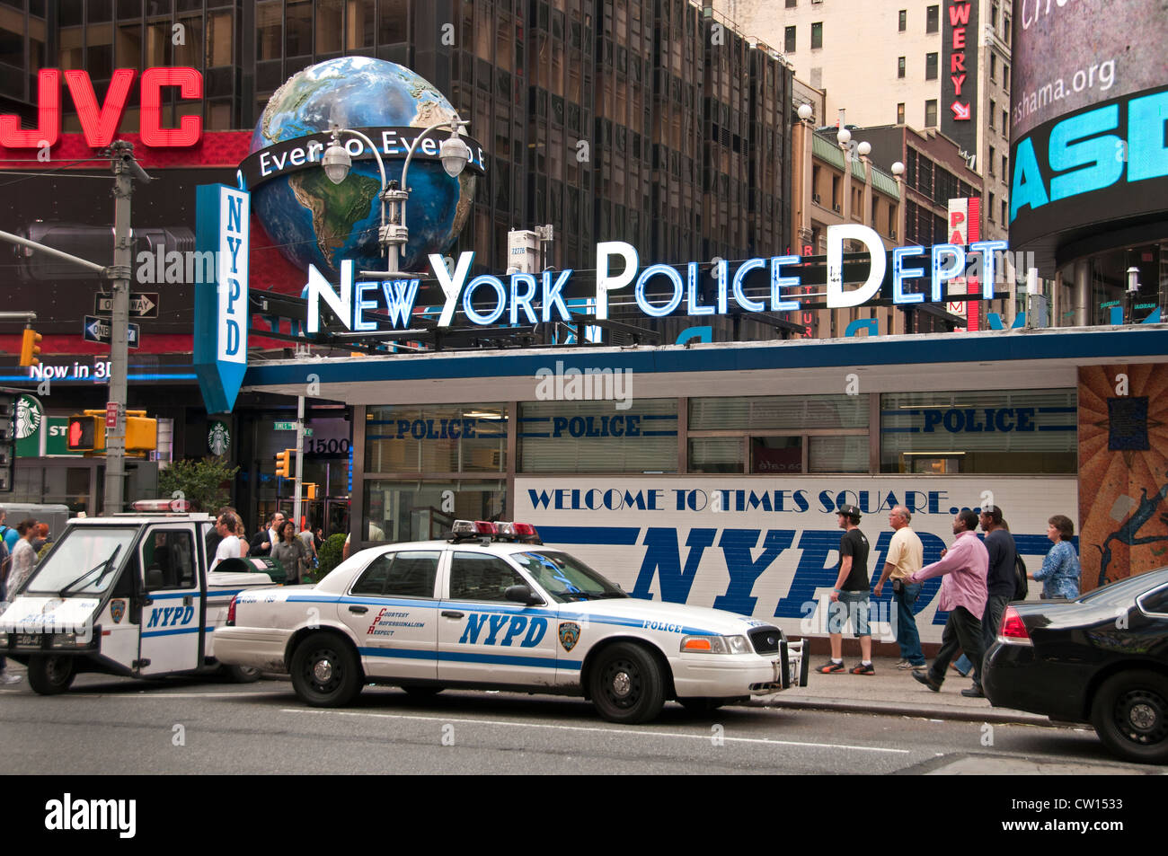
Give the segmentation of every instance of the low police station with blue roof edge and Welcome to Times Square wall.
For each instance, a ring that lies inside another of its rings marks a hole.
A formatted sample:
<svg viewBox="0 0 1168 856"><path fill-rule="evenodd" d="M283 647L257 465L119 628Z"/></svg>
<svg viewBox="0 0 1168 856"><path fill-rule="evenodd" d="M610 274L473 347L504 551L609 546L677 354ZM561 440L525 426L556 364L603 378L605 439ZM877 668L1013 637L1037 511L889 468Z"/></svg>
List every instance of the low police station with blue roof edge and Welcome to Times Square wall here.
<svg viewBox="0 0 1168 856"><path fill-rule="evenodd" d="M926 562L955 511L988 503L1031 568L1048 519L1071 517L1084 589L1154 562L1140 538L1168 542L1147 513L1168 495L1164 354L1168 328L1145 323L276 361L245 385L296 396L315 375L353 406L362 545L528 521L638 597L806 635L822 632L844 503L864 513L874 576L895 504Z"/></svg>

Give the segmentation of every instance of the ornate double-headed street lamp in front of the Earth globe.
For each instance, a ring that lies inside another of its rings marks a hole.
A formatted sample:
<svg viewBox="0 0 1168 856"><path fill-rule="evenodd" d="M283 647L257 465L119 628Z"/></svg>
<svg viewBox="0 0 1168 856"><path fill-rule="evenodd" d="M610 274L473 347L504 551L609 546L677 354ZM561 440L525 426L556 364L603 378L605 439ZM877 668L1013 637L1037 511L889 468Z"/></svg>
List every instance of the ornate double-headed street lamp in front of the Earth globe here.
<svg viewBox="0 0 1168 856"><path fill-rule="evenodd" d="M471 160L471 149L458 133L460 126L468 124L468 121L459 119L456 116L453 119L434 123L415 137L405 155L405 163L402 166L401 185L396 181L385 181L385 165L377 152L377 147L368 137L360 131L333 127L332 142L325 149L320 163L325 169L325 175L334 185L340 185L345 181L345 176L349 173L349 167L353 166L353 160L349 158L348 151L341 145L341 134L353 134L363 140L369 146L369 151L373 152L374 158L377 159L377 168L381 170L381 229L377 232L377 241L381 244L382 255L387 256L385 267L388 273L398 272L401 257L405 255L405 244L410 237L405 225L405 203L410 197L410 189L405 183L405 176L409 173L410 161L413 160L413 153L417 151L418 144L432 131L450 128L450 137L438 146L438 158L442 160L443 169L446 170L446 174L451 178L457 178ZM388 223L385 221L387 202L390 207Z"/></svg>

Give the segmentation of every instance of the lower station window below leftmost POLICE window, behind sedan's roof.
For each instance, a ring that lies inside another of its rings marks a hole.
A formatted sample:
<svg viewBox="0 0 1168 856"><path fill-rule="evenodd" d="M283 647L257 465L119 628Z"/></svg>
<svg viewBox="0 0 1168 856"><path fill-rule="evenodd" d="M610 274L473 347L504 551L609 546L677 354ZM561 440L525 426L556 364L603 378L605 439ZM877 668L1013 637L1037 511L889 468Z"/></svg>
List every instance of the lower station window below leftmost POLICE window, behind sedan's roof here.
<svg viewBox="0 0 1168 856"><path fill-rule="evenodd" d="M505 481L366 481L362 541L444 538L456 520L500 520Z"/></svg>

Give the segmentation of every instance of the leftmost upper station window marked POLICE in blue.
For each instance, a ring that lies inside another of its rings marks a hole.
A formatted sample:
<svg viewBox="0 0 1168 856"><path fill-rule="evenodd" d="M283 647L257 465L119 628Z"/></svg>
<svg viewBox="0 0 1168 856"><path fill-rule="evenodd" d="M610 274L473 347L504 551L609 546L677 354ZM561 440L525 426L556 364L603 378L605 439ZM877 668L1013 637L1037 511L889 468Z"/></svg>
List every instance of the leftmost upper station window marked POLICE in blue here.
<svg viewBox="0 0 1168 856"><path fill-rule="evenodd" d="M507 406L433 404L366 411L367 473L501 473Z"/></svg>

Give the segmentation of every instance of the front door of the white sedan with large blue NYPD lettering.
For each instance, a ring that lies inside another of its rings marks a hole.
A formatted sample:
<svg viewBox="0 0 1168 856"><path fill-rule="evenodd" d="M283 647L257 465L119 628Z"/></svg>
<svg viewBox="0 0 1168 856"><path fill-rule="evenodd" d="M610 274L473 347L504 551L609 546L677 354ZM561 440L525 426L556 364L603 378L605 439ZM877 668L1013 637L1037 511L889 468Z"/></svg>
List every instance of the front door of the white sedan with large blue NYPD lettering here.
<svg viewBox="0 0 1168 856"><path fill-rule="evenodd" d="M530 585L499 556L454 550L438 618L438 680L552 684L555 606L523 606L503 593Z"/></svg>

